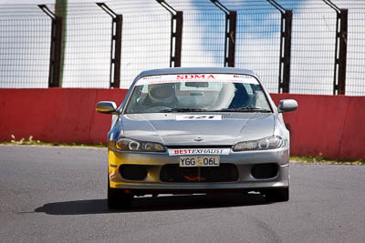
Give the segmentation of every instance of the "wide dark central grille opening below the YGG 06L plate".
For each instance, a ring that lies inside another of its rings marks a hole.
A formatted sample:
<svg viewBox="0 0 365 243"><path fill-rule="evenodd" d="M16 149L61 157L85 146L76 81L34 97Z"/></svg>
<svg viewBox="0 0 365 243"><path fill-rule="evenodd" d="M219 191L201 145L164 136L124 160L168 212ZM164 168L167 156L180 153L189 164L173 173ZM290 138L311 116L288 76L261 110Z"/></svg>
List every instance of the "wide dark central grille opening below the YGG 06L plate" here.
<svg viewBox="0 0 365 243"><path fill-rule="evenodd" d="M160 180L179 183L232 182L238 180L238 171L233 164L221 164L219 167L179 167L173 164L162 167Z"/></svg>

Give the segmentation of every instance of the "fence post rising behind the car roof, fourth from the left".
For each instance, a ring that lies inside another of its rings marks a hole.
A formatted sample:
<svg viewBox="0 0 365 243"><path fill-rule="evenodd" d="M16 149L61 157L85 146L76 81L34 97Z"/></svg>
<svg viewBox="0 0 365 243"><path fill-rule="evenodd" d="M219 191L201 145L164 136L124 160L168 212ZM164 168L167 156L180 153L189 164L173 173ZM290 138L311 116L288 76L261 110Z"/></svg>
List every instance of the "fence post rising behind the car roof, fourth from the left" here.
<svg viewBox="0 0 365 243"><path fill-rule="evenodd" d="M237 23L237 12L231 11L222 5L218 0L211 0L225 14L224 34L224 66L235 66L235 28Z"/></svg>

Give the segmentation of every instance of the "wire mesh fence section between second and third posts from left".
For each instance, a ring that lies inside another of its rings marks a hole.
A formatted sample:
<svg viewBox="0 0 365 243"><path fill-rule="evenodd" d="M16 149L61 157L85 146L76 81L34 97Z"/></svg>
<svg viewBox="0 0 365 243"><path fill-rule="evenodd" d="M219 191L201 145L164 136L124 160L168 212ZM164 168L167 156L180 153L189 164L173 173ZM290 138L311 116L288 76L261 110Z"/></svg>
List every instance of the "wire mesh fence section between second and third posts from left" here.
<svg viewBox="0 0 365 243"><path fill-rule="evenodd" d="M128 15L121 45L121 87L129 88L142 70L169 67L170 15Z"/></svg>

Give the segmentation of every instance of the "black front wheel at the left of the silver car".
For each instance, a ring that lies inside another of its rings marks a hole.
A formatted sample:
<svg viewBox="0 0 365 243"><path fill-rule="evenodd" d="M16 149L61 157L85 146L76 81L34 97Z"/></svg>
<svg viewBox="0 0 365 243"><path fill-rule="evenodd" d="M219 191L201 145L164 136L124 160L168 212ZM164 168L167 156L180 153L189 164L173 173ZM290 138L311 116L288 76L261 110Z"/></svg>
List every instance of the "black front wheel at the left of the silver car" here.
<svg viewBox="0 0 365 243"><path fill-rule="evenodd" d="M110 187L108 178L108 207L110 209L130 208L133 195L125 194L123 190Z"/></svg>

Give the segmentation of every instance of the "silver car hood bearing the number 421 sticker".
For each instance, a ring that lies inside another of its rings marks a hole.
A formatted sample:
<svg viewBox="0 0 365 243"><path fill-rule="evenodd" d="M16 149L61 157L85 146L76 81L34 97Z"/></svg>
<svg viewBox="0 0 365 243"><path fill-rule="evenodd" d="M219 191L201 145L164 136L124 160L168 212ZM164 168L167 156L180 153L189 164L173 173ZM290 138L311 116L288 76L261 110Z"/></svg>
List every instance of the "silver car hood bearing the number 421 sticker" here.
<svg viewBox="0 0 365 243"><path fill-rule="evenodd" d="M132 114L121 123L124 137L165 146L232 146L272 136L275 114Z"/></svg>

